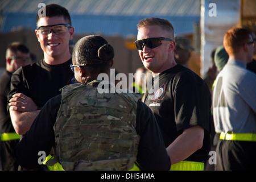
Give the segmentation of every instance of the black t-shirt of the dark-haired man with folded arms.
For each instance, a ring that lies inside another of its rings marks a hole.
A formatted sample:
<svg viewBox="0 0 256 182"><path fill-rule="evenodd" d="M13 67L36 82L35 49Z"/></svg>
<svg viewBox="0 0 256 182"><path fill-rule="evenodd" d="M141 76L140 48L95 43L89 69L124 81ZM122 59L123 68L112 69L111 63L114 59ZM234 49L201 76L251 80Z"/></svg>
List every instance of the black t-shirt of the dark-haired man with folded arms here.
<svg viewBox="0 0 256 182"><path fill-rule="evenodd" d="M69 84L74 73L69 65L72 59L63 64L49 65L44 60L20 67L11 78L9 99L15 93L30 97L38 107L60 94L60 89Z"/></svg>

